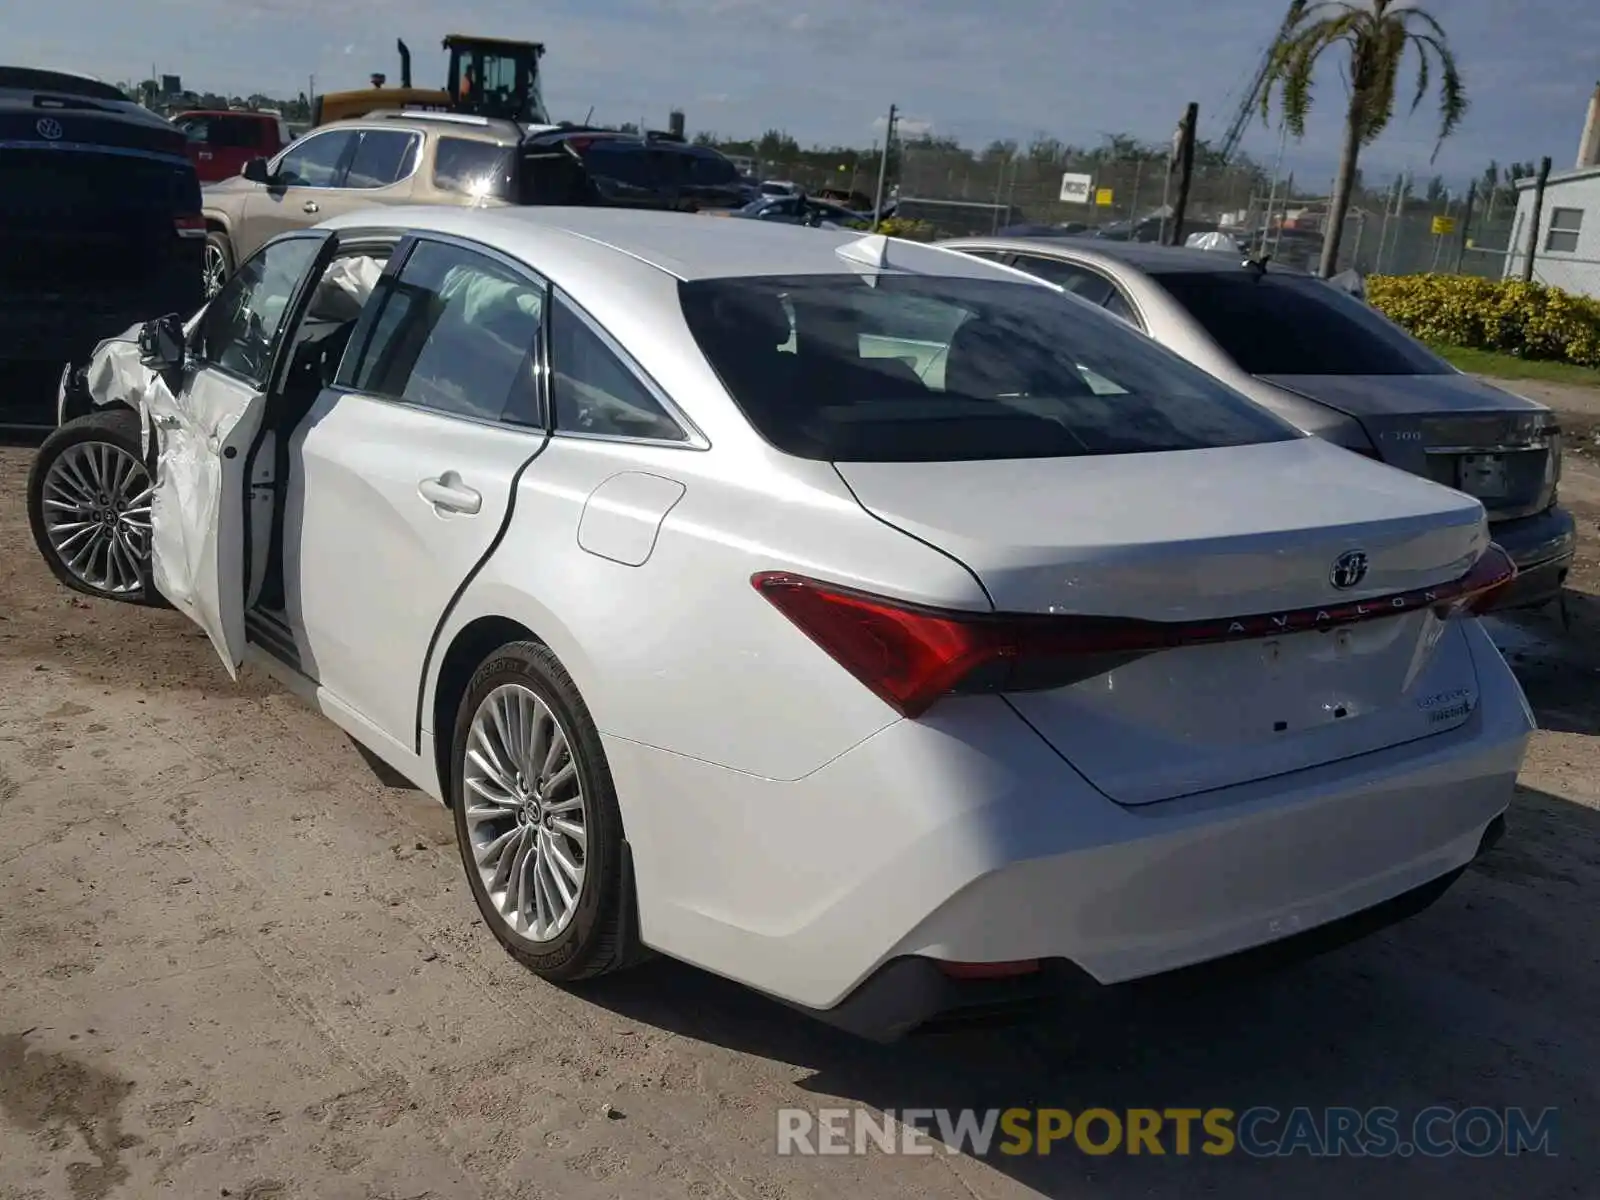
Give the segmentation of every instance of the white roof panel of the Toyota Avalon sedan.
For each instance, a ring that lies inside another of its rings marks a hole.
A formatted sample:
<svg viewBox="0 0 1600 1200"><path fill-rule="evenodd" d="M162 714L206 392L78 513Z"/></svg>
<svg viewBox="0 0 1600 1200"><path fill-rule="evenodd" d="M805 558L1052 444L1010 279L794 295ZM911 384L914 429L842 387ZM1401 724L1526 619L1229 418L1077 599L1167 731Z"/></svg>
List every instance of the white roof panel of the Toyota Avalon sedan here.
<svg viewBox="0 0 1600 1200"><path fill-rule="evenodd" d="M546 256L571 251L574 240L602 253L618 274L648 264L680 280L750 275L832 275L851 270L837 253L866 235L856 230L806 229L765 221L714 221L694 213L630 208L394 206L365 210L323 222L330 229L400 229L438 232L483 242L539 266ZM590 254L586 254L590 258ZM1018 272L938 246L893 240L888 270L1018 280Z"/></svg>

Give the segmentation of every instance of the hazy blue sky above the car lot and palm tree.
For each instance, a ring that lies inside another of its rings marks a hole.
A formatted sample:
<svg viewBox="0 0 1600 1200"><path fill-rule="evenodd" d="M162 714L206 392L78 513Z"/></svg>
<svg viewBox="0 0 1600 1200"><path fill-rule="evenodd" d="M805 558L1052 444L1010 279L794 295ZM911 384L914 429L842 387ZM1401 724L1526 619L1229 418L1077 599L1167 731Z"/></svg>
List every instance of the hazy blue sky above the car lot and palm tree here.
<svg viewBox="0 0 1600 1200"><path fill-rule="evenodd" d="M50 0L6 21L6 59L102 78L150 66L186 86L294 93L397 77L395 37L418 82L440 77L438 38L453 30L549 45L546 96L557 118L666 122L802 142L867 144L898 102L910 128L982 144L1050 133L1093 144L1101 133L1170 134L1186 101L1216 136L1282 18L1282 0ZM1363 155L1370 178L1408 163L1426 174L1475 174L1485 162L1571 166L1584 106L1600 77L1600 5L1584 0L1430 0L1451 35L1472 112L1427 166L1429 104ZM1342 85L1328 67L1318 112L1290 165L1331 174ZM1270 160L1259 122L1245 149Z"/></svg>

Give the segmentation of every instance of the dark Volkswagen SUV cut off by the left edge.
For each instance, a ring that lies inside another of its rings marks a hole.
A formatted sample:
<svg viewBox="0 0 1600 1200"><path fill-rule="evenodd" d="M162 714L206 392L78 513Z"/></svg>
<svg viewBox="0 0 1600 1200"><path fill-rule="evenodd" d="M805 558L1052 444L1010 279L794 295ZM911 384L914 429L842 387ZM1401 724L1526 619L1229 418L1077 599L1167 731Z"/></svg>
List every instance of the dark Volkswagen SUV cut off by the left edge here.
<svg viewBox="0 0 1600 1200"><path fill-rule="evenodd" d="M184 134L91 78L0 66L0 365L82 363L202 302L205 221ZM0 424L54 424L54 395Z"/></svg>

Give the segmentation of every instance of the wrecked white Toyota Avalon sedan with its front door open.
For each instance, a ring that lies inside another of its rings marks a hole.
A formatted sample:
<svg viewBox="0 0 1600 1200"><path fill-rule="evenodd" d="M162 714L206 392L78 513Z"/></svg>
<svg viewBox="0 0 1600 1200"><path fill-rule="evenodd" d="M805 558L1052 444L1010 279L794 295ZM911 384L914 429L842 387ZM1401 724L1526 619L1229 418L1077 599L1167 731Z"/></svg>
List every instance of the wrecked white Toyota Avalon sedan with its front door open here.
<svg viewBox="0 0 1600 1200"><path fill-rule="evenodd" d="M546 979L893 1037L1322 944L1493 840L1533 725L1478 501L933 246L373 211L88 386L35 520L144 562L56 466L142 411L142 587L448 803Z"/></svg>

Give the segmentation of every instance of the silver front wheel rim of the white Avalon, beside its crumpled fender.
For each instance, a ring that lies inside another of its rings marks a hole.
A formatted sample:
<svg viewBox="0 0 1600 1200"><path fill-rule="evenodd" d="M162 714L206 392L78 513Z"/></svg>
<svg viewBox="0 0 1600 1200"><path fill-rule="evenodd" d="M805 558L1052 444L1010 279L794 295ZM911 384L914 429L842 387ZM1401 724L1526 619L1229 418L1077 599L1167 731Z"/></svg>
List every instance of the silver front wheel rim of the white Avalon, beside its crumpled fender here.
<svg viewBox="0 0 1600 1200"><path fill-rule="evenodd" d="M75 442L50 464L43 523L67 573L102 595L144 587L150 494L144 464L110 442Z"/></svg>

